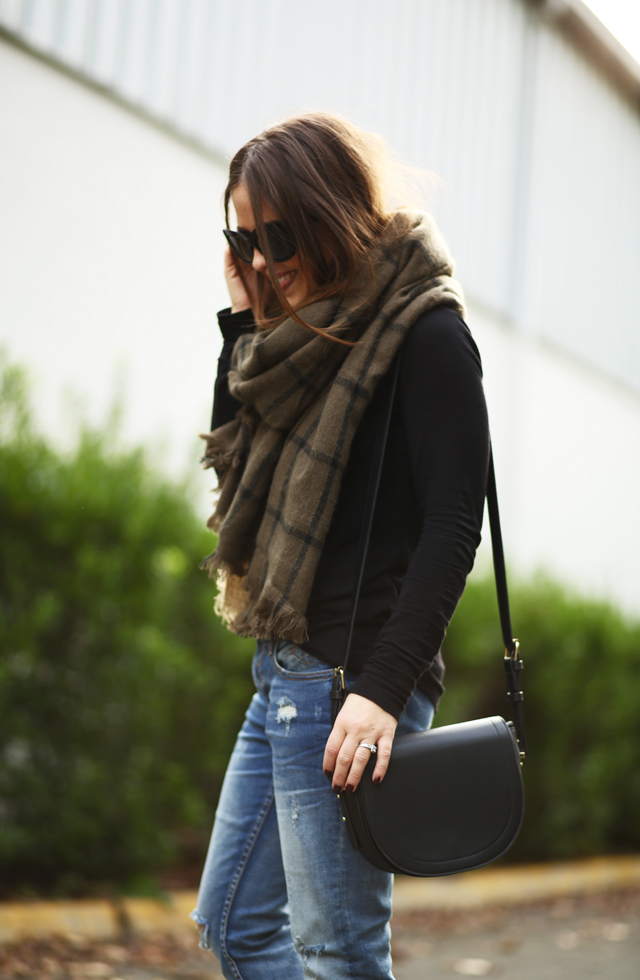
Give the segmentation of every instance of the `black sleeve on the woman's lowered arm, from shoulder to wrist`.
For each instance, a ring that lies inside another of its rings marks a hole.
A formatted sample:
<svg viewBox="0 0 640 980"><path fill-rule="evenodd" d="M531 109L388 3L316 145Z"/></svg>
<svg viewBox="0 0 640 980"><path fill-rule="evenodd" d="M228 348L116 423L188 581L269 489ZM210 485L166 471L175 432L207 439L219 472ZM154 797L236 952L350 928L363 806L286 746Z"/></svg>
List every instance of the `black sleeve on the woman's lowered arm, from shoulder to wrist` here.
<svg viewBox="0 0 640 980"><path fill-rule="evenodd" d="M457 313L438 308L416 322L399 383L421 532L393 612L352 687L396 718L440 649L480 543L489 427L480 355Z"/></svg>

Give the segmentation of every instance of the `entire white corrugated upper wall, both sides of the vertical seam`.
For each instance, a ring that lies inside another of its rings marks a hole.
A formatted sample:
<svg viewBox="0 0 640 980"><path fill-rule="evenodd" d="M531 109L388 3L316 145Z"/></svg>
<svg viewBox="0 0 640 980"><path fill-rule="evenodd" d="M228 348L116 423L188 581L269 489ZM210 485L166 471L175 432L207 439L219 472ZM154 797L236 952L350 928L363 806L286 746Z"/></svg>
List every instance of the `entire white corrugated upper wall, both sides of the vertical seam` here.
<svg viewBox="0 0 640 980"><path fill-rule="evenodd" d="M441 187L477 302L640 385L640 119L525 0L0 0L0 23L224 154L304 108Z"/></svg>

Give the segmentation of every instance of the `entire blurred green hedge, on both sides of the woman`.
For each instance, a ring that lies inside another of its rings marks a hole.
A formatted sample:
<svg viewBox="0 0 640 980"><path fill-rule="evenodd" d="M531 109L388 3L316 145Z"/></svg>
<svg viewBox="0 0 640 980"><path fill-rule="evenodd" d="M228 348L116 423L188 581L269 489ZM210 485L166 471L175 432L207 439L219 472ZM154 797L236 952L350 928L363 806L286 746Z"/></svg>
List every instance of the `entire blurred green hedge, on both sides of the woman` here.
<svg viewBox="0 0 640 980"><path fill-rule="evenodd" d="M187 488L112 443L54 451L4 371L0 896L139 888L201 860L251 696L253 644L213 615ZM529 758L510 858L640 850L640 626L548 582L512 593ZM444 653L438 724L507 712L491 580L470 582Z"/></svg>

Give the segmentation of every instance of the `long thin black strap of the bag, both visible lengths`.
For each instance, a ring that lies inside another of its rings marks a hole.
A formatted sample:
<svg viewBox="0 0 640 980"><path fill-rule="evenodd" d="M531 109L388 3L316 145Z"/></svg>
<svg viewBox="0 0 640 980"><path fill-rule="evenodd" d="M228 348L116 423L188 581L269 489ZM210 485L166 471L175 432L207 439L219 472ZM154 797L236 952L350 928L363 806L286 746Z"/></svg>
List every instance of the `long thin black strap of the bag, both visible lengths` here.
<svg viewBox="0 0 640 980"><path fill-rule="evenodd" d="M395 357L394 364L388 372L387 378L382 383L388 384L385 393L384 407L381 412L381 421L378 427L376 444L373 451L371 463L371 476L367 488L364 511L362 515L362 527L360 529L360 540L358 543L358 558L356 561L356 575L351 597L351 615L349 617L349 629L347 631L347 642L343 658L343 666L337 667L335 671L334 684L331 691L333 700L333 718L340 710L341 703L345 697L344 672L347 670L351 642L356 622L356 612L360 590L362 588L362 578L364 566L369 548L371 537L371 526L373 524L373 514L378 497L380 486L380 476L382 474L382 463L389 435L389 425L393 402L398 385L398 374L400 372L400 354ZM496 592L498 595L498 609L500 611L500 626L502 629L502 639L505 646L504 666L507 674L507 697L511 701L513 708L513 723L516 736L520 747L520 755L524 758L526 752L526 741L524 733L524 714L522 710L522 691L520 690L520 671L522 670L522 660L518 654L518 641L514 640L511 633L511 613L509 611L509 592L507 589L507 573L504 561L504 551L502 547L502 532L500 530L500 514L498 511L498 493L496 488L496 475L493 466L493 450L489 451L489 473L487 480L487 505L489 510L489 526L491 528L491 545L493 549L493 569L496 579Z"/></svg>

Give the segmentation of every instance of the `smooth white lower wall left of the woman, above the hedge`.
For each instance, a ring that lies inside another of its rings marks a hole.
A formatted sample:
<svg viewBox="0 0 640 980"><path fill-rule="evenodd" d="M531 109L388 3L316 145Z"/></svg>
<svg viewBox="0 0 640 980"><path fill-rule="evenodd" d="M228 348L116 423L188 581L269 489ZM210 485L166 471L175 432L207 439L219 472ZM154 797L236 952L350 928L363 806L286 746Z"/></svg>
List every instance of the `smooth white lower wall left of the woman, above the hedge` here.
<svg viewBox="0 0 640 980"><path fill-rule="evenodd" d="M0 42L0 344L31 368L47 431L69 428L65 389L100 421L120 385L127 439L174 473L195 460L227 305L224 183L222 166Z"/></svg>

